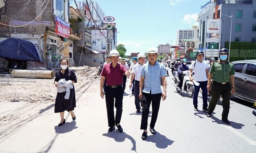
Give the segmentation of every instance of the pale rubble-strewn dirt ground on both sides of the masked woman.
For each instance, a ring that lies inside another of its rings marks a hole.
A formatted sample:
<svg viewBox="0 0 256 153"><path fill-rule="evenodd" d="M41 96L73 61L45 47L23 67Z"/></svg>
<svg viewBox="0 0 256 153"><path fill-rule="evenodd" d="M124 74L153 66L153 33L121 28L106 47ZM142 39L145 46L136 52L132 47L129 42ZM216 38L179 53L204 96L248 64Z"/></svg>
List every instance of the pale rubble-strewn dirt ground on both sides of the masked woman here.
<svg viewBox="0 0 256 153"><path fill-rule="evenodd" d="M91 67L87 71L79 69L75 70L75 72L77 77L77 83L74 84L76 96L83 93L82 88L86 88L86 92L95 92L95 89L99 88L100 77L97 76L98 68ZM27 120L27 118L22 116L33 114L31 113L33 106L40 104L42 109L49 106L49 104L54 106L57 89L53 82L54 79L0 77L0 128L5 129L11 127L19 120ZM87 84L90 85L86 86ZM11 103L12 105L10 105ZM8 113L9 110L13 112L15 106L21 104L23 105L22 109L15 110L15 113Z"/></svg>

